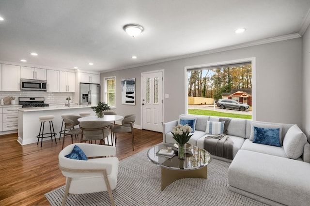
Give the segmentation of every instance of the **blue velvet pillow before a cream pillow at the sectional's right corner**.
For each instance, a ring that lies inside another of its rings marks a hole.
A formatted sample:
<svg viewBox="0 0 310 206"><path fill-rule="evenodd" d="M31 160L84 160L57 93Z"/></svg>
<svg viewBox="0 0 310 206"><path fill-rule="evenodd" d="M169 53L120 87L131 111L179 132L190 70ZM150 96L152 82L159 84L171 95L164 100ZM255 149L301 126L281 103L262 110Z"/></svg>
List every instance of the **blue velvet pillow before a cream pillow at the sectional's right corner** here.
<svg viewBox="0 0 310 206"><path fill-rule="evenodd" d="M280 128L254 127L253 143L281 147L279 132Z"/></svg>

